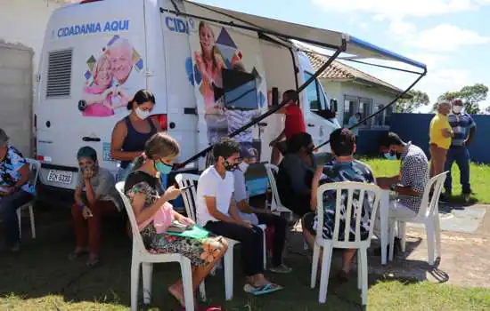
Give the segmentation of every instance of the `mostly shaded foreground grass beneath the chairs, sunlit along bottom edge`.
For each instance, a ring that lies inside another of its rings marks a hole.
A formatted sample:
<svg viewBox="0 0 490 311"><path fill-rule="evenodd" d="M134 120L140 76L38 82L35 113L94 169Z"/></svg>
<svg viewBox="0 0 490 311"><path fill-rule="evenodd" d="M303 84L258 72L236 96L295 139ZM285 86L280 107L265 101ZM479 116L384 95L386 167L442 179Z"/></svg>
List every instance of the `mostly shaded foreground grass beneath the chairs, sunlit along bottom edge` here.
<svg viewBox="0 0 490 311"><path fill-rule="evenodd" d="M83 260L69 261L73 250L69 210L37 210L37 239L24 239L23 249L13 255L1 251L0 310L128 310L130 292L131 243L124 235L124 224L105 223L102 265L88 269ZM23 222L26 225L29 222ZM29 235L29 231L24 231ZM240 251L235 251L233 301L225 302L224 275L220 271L206 281L211 304L226 310L360 310L360 291L356 275L349 283L331 281L327 304L318 304L318 288L309 287L310 261L301 254L302 238L291 233L287 263L290 275L267 277L284 286L283 291L251 297L241 289ZM298 251L298 252L296 252ZM339 259L336 252L334 258ZM372 258L370 260L379 260ZM332 263L332 273L339 266ZM177 264L157 264L153 272L151 310L178 310L167 286L180 275ZM490 290L465 289L437 283L400 283L370 275L368 310L489 310ZM141 287L140 287L141 295Z"/></svg>

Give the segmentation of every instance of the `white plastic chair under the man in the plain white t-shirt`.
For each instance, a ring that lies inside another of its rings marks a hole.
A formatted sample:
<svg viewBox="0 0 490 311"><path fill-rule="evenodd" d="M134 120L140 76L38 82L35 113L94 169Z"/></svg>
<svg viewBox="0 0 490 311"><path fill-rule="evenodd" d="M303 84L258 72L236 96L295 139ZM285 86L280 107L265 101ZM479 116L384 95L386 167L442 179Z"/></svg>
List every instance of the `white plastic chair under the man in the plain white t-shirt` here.
<svg viewBox="0 0 490 311"><path fill-rule="evenodd" d="M182 193L182 197L184 199L185 211L187 212L187 216L192 220L197 221L196 219L196 199L197 199L197 191L196 184L199 181L200 176L194 174L178 174L176 175L176 183L180 188L189 187L184 190ZM259 225L263 231L264 237L264 269L267 266L267 249L265 245L265 225ZM231 300L233 299L233 247L236 244L239 244L239 241L235 241L232 239L226 238L228 242L228 250L225 253L224 261L225 261L225 299Z"/></svg>

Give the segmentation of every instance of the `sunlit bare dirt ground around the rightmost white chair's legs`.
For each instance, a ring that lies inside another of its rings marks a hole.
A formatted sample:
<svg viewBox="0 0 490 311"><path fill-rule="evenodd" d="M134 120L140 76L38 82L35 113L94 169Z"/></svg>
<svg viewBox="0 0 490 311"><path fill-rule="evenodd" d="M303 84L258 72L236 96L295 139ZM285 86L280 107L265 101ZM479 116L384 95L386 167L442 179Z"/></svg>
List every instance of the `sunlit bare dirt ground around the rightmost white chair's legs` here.
<svg viewBox="0 0 490 311"><path fill-rule="evenodd" d="M478 229L472 233L441 232L441 259L430 267L427 258L425 230L407 227L407 245L393 262L381 266L380 257L371 256L370 273L415 278L437 283L490 288L490 205L440 207L441 217L450 210L471 211L485 209L486 213Z"/></svg>

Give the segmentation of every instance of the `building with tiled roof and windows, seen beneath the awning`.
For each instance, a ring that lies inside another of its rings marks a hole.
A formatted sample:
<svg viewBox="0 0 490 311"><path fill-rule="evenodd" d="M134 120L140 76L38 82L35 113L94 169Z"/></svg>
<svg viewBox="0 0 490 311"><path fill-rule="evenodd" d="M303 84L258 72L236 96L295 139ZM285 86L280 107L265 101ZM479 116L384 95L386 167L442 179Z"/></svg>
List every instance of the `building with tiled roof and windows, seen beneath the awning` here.
<svg viewBox="0 0 490 311"><path fill-rule="evenodd" d="M311 60L315 70L322 67L328 60L314 52L306 52L306 55ZM329 97L338 100L339 107L336 110L339 116L339 124L344 125L347 125L348 119L355 113L359 112L363 117L370 116L395 100L396 94L403 92L394 85L339 61L332 62L331 66L323 71L318 78ZM388 129L389 116L393 112L392 108L386 109L368 121L361 129Z"/></svg>

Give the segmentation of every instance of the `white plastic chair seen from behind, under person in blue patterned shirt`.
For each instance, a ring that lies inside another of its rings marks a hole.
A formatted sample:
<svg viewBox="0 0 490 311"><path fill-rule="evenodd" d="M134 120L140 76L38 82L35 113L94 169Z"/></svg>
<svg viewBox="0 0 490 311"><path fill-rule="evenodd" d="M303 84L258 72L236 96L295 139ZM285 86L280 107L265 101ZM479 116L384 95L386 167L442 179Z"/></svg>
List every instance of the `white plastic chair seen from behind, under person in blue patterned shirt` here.
<svg viewBox="0 0 490 311"><path fill-rule="evenodd" d="M331 240L323 238L323 193L325 191L336 191L336 207L335 207L335 227ZM342 191L347 191L347 204L346 204L346 220L344 227L344 240L339 241L339 228L340 217L342 210ZM355 206L354 193L359 193L359 203L357 210L353 211ZM357 287L361 290L361 299L363 306L367 304L367 285L368 285L368 260L367 249L371 245L372 228L370 227L369 235L365 240L361 240L361 218L355 218L355 240L349 241L350 235L350 223L352 215L361 215L363 208L363 200L365 194L372 194L373 205L371 214L371 224L374 224L376 219L376 210L380 205L381 189L373 184L366 184L362 182L338 182L323 184L318 188L318 200L317 200L317 215L318 224L316 228L316 238L314 242L313 251L313 267L311 272L311 288L314 288L316 284L316 272L318 270L318 260L320 259L320 248L323 247L323 259L322 259L322 275L320 280L320 294L318 301L324 303L327 299L327 288L329 284L329 274L331 266L331 253L333 248L342 249L357 249Z"/></svg>

